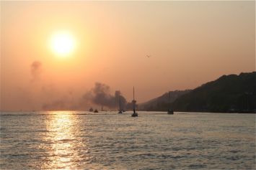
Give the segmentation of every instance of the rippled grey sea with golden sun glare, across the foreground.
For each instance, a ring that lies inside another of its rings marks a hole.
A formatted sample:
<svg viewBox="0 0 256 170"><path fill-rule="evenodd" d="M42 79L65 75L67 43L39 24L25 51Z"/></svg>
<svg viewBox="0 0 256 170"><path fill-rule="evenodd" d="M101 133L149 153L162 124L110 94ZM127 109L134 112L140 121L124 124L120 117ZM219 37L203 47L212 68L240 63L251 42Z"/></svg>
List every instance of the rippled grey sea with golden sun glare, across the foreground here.
<svg viewBox="0 0 256 170"><path fill-rule="evenodd" d="M255 115L1 113L1 169L255 169Z"/></svg>

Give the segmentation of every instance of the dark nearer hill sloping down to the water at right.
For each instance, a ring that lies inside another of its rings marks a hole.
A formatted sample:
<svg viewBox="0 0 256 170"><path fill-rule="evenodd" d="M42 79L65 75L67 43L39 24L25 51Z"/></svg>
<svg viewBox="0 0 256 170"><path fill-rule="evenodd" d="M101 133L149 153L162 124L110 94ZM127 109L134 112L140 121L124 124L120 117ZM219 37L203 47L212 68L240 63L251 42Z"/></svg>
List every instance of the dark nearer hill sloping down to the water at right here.
<svg viewBox="0 0 256 170"><path fill-rule="evenodd" d="M256 72L223 75L172 103L159 103L155 110L220 113L256 113Z"/></svg>

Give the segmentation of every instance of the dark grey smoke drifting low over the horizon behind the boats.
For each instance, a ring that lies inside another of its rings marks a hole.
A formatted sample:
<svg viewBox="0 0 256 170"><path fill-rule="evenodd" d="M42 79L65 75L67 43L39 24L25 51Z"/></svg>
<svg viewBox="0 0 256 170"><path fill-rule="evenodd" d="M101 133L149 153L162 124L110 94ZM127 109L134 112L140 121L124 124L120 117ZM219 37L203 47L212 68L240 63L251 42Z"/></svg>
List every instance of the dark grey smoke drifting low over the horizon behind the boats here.
<svg viewBox="0 0 256 170"><path fill-rule="evenodd" d="M126 109L126 100L119 90L116 90L114 94L111 94L110 87L100 82L96 82L94 87L84 95L62 96L61 98L55 98L48 100L48 102L42 105L43 110L85 110L91 107L100 106L109 109ZM72 99L73 98L73 99Z"/></svg>

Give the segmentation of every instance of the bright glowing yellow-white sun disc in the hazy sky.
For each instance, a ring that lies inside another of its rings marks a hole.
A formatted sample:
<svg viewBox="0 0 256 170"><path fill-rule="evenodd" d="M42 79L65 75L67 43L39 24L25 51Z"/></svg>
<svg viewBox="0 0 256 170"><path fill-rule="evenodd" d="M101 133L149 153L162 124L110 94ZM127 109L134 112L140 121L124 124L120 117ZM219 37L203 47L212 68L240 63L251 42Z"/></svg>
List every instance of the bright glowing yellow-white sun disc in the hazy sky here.
<svg viewBox="0 0 256 170"><path fill-rule="evenodd" d="M50 37L50 49L60 57L66 57L74 52L75 39L70 32L56 32Z"/></svg>

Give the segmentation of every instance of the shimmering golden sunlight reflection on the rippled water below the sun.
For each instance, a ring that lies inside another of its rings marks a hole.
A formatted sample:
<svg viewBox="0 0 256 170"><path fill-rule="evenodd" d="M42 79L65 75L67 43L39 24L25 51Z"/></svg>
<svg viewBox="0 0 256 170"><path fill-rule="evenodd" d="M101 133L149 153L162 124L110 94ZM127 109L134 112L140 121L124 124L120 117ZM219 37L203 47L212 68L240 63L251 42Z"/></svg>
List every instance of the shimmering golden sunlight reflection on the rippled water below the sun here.
<svg viewBox="0 0 256 170"><path fill-rule="evenodd" d="M77 115L69 111L51 112L46 123L48 136L46 140L50 144L48 147L50 169L74 169L83 159L84 154L81 148L86 144L79 138L81 131L78 130L79 122ZM81 127L80 127L81 128Z"/></svg>

